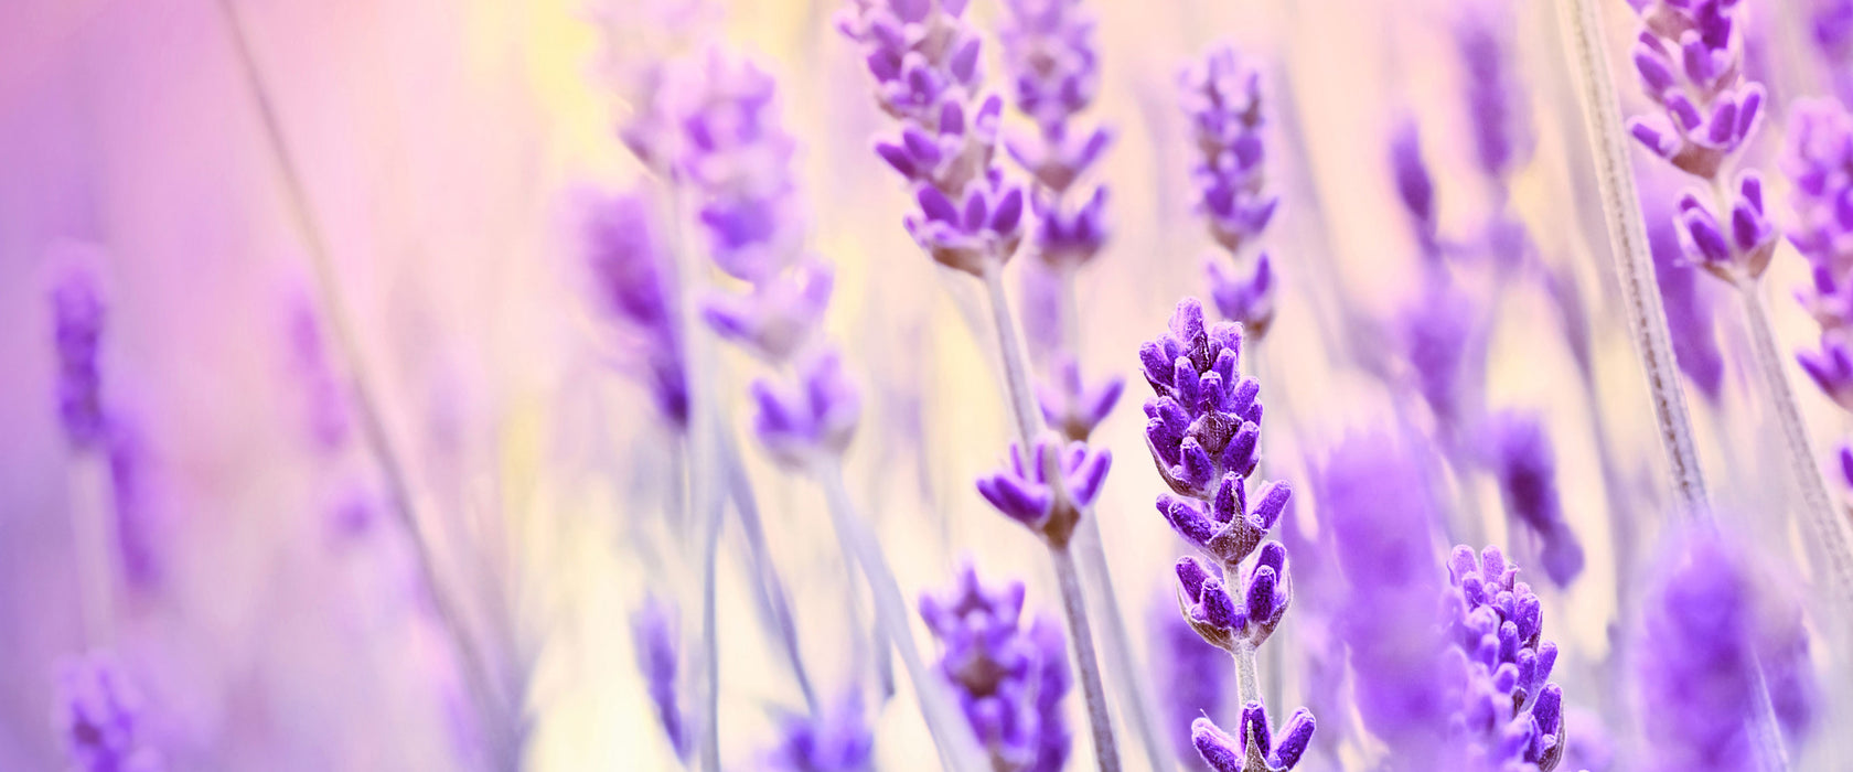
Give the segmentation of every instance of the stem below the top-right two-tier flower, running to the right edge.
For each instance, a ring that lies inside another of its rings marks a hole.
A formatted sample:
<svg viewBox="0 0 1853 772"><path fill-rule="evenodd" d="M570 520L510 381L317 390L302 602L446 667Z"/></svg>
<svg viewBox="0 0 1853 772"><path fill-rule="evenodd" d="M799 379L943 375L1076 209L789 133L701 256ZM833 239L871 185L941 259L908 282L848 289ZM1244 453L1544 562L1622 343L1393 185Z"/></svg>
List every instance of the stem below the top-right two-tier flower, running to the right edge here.
<svg viewBox="0 0 1853 772"><path fill-rule="evenodd" d="M1847 520L1836 515L1833 498L1827 494L1827 479L1821 465L1814 461L1809 448L1809 430L1801 422L1801 407L1796 392L1788 387L1783 372L1784 359L1775 348L1775 330L1770 328L1770 311L1762 304L1757 281L1738 281L1738 296L1744 298L1744 315L1749 320L1751 352L1757 357L1757 370L1762 374L1770 402L1775 405L1775 420L1783 428L1783 442L1788 448L1788 468L1801 489L1801 502L1807 507L1803 524L1809 535L1827 557L1829 581L1842 604L1853 602L1853 554L1847 548Z"/></svg>

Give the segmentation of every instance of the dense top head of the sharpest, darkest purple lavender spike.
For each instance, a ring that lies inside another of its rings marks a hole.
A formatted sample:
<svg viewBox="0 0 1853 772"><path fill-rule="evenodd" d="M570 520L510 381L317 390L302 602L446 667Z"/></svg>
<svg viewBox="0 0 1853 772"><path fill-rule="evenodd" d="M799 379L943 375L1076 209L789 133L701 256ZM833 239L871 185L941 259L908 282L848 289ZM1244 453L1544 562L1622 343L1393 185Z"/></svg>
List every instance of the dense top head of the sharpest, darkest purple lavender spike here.
<svg viewBox="0 0 1853 772"><path fill-rule="evenodd" d="M1206 328L1203 304L1184 298L1169 331L1140 346L1154 398L1145 400L1145 444L1158 474L1180 496L1212 502L1225 476L1258 461L1260 383L1242 376L1242 328Z"/></svg>

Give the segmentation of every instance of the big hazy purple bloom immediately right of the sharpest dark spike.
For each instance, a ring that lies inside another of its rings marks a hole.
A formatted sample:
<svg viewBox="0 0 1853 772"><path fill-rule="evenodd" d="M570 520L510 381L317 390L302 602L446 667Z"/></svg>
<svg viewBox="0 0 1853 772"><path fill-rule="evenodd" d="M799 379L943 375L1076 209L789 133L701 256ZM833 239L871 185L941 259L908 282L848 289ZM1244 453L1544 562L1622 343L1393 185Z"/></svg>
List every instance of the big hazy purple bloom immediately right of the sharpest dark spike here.
<svg viewBox="0 0 1853 772"><path fill-rule="evenodd" d="M1416 450L1384 433L1347 437L1319 474L1321 533L1349 591L1334 631L1351 650L1353 700L1395 768L1436 766L1456 692L1447 672L1436 502ZM1323 526L1330 524L1330 529Z"/></svg>

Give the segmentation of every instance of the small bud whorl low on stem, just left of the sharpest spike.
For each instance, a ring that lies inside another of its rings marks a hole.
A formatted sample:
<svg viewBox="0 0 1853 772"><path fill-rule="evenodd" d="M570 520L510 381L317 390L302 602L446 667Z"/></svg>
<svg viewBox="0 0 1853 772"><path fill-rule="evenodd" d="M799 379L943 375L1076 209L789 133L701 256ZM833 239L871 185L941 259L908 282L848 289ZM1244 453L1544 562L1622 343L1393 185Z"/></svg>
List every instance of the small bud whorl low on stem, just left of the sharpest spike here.
<svg viewBox="0 0 1853 772"><path fill-rule="evenodd" d="M1110 450L1080 441L1045 437L1028 454L1012 442L1004 468L978 478L978 494L1051 546L1065 546L1112 467Z"/></svg>

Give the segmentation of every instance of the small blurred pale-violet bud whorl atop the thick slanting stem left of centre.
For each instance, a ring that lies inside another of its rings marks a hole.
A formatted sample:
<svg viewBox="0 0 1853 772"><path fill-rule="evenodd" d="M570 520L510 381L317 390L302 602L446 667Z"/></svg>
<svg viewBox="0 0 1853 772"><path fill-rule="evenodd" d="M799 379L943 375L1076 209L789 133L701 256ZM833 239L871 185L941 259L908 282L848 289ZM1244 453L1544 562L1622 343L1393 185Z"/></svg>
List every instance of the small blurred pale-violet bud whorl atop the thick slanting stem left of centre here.
<svg viewBox="0 0 1853 772"><path fill-rule="evenodd" d="M862 394L832 346L800 359L791 383L754 380L752 404L758 407L754 435L775 461L788 467L843 455L862 418Z"/></svg>

